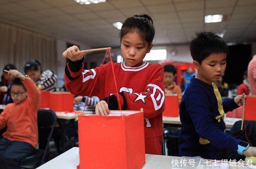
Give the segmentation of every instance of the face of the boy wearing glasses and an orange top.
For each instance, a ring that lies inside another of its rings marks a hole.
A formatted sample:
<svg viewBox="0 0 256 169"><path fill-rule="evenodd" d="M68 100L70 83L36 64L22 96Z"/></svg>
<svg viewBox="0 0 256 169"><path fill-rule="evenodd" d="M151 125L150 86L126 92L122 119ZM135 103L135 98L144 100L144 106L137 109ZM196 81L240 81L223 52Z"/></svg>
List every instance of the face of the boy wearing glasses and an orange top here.
<svg viewBox="0 0 256 169"><path fill-rule="evenodd" d="M11 97L14 103L20 103L27 97L27 91L20 85L12 85Z"/></svg>

